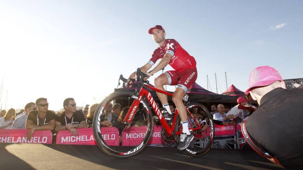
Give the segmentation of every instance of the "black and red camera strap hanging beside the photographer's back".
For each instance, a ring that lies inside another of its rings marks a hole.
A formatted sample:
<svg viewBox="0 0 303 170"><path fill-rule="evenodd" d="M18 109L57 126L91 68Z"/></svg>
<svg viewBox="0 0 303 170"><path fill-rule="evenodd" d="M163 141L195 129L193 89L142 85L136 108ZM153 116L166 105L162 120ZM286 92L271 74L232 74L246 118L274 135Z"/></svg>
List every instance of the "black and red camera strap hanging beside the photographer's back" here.
<svg viewBox="0 0 303 170"><path fill-rule="evenodd" d="M251 136L249 136L249 133L246 130L246 120L242 122L241 131L246 142L251 146L252 149L254 149L261 156L269 159L271 162L281 165L277 158L268 153L258 142L256 142Z"/></svg>

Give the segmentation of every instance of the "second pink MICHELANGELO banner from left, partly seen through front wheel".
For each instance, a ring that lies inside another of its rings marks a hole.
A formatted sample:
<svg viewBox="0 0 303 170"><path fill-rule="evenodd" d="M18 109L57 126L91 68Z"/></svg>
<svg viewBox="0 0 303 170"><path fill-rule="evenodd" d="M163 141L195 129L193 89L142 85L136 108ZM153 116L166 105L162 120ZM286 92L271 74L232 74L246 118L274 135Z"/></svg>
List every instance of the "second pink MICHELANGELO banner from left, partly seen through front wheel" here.
<svg viewBox="0 0 303 170"><path fill-rule="evenodd" d="M78 136L68 130L57 133L56 144L97 145L92 128L77 129ZM108 145L119 145L119 130L115 127L102 127L102 136Z"/></svg>

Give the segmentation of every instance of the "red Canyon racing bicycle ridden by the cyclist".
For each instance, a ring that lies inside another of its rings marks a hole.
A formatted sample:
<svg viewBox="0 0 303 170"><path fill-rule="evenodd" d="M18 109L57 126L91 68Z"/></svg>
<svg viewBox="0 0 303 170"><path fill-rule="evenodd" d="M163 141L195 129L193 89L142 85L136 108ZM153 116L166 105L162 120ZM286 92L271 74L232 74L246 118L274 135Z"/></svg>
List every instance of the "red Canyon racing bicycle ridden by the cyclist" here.
<svg viewBox="0 0 303 170"><path fill-rule="evenodd" d="M176 144L179 142L182 125L180 125L181 119L178 110L175 111L172 118L164 118L150 91L155 90L168 96L173 94L148 85L148 81L144 80L144 77L147 77L147 75L138 68L135 79L140 83L138 90L136 89L135 92L121 90L110 94L99 104L95 112L93 119L95 140L106 155L115 158L128 158L140 153L151 139L155 124L154 118L163 126L161 139L164 142L175 142ZM123 81L123 87L125 87L126 79L121 75L120 80ZM188 96L183 98L189 120L188 129L194 134L195 138L183 152L190 156L204 155L211 148L214 138L212 116L205 106L200 103L189 103L187 99ZM120 114L120 120L113 123L114 127L101 126L108 103L119 103L121 108L128 109L128 111L125 111L126 115ZM204 119L207 123L201 124L189 111L196 108L205 112Z"/></svg>

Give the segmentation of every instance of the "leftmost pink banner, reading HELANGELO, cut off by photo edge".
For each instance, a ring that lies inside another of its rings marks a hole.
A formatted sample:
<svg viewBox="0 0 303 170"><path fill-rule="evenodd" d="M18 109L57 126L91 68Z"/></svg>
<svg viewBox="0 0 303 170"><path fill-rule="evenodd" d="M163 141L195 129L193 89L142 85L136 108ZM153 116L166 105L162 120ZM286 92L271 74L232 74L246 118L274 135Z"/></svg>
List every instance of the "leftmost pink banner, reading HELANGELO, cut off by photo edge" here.
<svg viewBox="0 0 303 170"><path fill-rule="evenodd" d="M0 129L1 143L45 143L51 144L53 134L50 130L37 130L31 140L26 140L29 129Z"/></svg>

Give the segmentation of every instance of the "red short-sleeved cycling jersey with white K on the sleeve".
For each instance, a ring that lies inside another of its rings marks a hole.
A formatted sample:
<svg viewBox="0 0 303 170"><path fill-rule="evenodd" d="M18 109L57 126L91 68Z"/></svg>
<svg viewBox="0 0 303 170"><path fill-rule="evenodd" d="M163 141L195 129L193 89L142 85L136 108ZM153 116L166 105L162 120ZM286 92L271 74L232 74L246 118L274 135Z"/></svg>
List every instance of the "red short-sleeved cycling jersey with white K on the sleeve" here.
<svg viewBox="0 0 303 170"><path fill-rule="evenodd" d="M163 58L166 53L173 56L171 61L168 63L173 69L183 71L187 68L196 68L195 58L189 55L188 52L185 51L174 39L166 39L165 43L161 47L155 49L148 63L154 65L155 62L159 58Z"/></svg>

